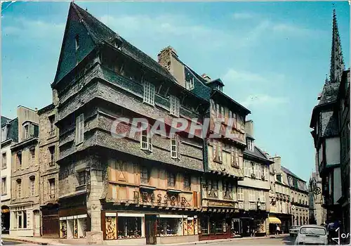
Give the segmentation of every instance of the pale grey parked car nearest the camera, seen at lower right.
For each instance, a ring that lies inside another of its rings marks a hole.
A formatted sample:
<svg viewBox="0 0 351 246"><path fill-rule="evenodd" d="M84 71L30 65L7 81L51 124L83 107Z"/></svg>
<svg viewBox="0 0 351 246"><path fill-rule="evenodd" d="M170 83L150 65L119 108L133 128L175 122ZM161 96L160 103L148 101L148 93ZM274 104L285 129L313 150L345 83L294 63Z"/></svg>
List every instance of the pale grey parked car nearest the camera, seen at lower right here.
<svg viewBox="0 0 351 246"><path fill-rule="evenodd" d="M301 226L295 245L327 245L328 233L324 226L305 225Z"/></svg>

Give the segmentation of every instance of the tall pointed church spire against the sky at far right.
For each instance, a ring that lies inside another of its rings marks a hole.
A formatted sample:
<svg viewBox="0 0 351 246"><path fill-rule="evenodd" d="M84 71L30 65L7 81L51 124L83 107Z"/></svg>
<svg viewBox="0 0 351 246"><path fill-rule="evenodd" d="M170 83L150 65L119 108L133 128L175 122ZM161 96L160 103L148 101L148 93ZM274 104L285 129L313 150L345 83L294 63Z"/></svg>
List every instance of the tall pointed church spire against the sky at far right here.
<svg viewBox="0 0 351 246"><path fill-rule="evenodd" d="M336 11L333 10L333 40L331 41L331 66L330 66L330 82L340 82L341 75L345 69L343 52L341 51L341 43L338 31L338 23L336 22Z"/></svg>

